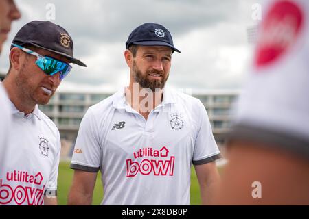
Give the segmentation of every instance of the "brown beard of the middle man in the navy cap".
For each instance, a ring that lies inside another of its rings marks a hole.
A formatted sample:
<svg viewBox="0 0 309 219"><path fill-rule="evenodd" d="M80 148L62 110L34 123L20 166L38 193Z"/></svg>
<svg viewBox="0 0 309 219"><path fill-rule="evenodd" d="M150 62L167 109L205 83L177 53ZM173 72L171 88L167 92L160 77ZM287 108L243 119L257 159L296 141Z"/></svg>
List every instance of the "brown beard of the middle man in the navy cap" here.
<svg viewBox="0 0 309 219"><path fill-rule="evenodd" d="M133 69L132 70L133 70L133 77L134 77L135 81L137 83L139 83L141 88L149 88L150 90L152 90L152 92L155 92L156 89L164 88L165 83L168 80L168 76L169 76L169 75L167 75L165 77L164 73L162 73L158 70L154 70L154 69L147 70L146 73L143 75L143 73L141 73L141 70L139 70L139 68L137 68L135 61L133 61ZM159 75L161 75L161 78L151 80L149 78L149 73L159 74Z"/></svg>

